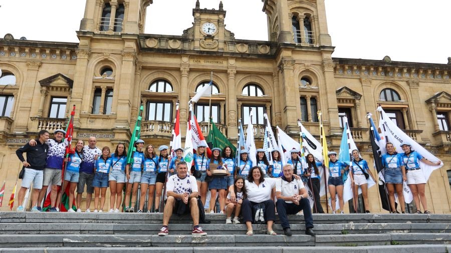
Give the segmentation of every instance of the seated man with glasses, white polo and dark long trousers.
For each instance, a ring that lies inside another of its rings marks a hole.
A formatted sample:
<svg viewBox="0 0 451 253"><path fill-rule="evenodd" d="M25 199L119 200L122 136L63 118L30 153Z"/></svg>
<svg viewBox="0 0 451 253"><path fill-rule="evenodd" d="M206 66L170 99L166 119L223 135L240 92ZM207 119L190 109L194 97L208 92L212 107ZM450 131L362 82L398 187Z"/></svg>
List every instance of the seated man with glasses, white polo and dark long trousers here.
<svg viewBox="0 0 451 253"><path fill-rule="evenodd" d="M291 164L285 164L282 172L284 175L281 178L277 178L276 182L276 206L285 235L291 236L287 214L296 214L300 210L304 212L305 234L316 235L312 229L312 211L310 210L310 201L304 183L302 180L293 177Z"/></svg>

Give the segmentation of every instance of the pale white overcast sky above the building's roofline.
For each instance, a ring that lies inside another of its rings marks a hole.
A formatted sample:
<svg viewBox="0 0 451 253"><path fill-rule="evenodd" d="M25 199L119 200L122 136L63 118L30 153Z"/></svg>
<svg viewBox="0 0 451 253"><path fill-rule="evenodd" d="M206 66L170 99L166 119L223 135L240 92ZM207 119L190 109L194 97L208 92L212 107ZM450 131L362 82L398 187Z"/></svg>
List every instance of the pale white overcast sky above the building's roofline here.
<svg viewBox="0 0 451 253"><path fill-rule="evenodd" d="M85 0L0 0L0 36L78 42L76 30ZM237 39L268 40L261 0L222 0L225 28ZM325 0L333 57L447 63L451 57L451 1ZM219 0L200 0L218 9ZM176 6L174 8L174 6ZM195 0L154 0L147 7L145 32L181 35L193 22Z"/></svg>

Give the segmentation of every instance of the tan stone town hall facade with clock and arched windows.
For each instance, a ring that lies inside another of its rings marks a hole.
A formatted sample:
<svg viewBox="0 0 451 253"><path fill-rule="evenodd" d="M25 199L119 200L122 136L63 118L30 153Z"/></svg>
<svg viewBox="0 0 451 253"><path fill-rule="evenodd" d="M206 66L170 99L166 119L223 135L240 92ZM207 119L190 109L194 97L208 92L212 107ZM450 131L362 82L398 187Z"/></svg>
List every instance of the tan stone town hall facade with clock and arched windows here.
<svg viewBox="0 0 451 253"><path fill-rule="evenodd" d="M451 62L334 58L324 0L263 0L268 41L235 38L225 28L222 3L205 9L199 1L192 9L192 26L181 35L145 34L146 8L152 2L86 0L79 43L11 34L0 39L0 181L6 180L5 195L21 168L16 149L39 129L63 127L70 105L77 108L74 139L94 135L99 147L112 148L128 142L142 103L141 138L155 146L168 144L176 101L185 132L188 100L212 76L217 126L236 141L238 119L246 123L252 108L257 146L263 140L263 111L273 126L293 136L299 136L298 118L318 136L316 111L321 109L329 149L338 149L346 115L356 144L372 164L365 115L377 115L380 104L400 128L443 160L426 195L432 212L451 212ZM208 102L202 98L194 105L205 136ZM382 212L376 187L369 192L371 210Z"/></svg>

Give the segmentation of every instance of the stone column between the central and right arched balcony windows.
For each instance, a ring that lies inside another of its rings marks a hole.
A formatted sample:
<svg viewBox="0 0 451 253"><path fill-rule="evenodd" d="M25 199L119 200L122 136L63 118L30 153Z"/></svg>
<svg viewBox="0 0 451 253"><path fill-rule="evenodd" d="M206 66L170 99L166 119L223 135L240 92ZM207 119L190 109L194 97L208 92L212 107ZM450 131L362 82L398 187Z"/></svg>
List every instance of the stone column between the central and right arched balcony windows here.
<svg viewBox="0 0 451 253"><path fill-rule="evenodd" d="M237 73L237 70L235 68L230 68L227 70L227 73L229 75L229 82L227 83L227 136L235 138L238 134L237 87L235 83L235 74Z"/></svg>

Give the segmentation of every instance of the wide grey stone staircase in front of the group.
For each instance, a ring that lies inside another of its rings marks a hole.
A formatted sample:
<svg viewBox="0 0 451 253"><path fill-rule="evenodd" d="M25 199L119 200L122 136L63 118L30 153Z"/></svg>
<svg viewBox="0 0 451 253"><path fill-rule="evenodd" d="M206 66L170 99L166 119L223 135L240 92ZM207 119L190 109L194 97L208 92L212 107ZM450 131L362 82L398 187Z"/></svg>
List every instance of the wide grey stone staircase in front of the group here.
<svg viewBox="0 0 451 253"><path fill-rule="evenodd" d="M225 224L206 214L206 236L191 235L189 216L175 216L158 236L162 213L0 212L0 252L451 252L451 214L314 214L316 236L303 215L291 215L293 236L266 225Z"/></svg>

